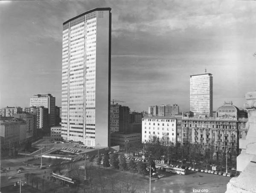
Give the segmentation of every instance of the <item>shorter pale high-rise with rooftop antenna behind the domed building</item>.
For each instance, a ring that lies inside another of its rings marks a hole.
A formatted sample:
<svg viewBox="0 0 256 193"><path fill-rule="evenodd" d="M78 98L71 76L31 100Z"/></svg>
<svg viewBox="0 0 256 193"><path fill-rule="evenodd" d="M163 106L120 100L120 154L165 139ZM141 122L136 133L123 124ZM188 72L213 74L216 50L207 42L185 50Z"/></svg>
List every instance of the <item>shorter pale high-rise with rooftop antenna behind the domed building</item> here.
<svg viewBox="0 0 256 193"><path fill-rule="evenodd" d="M190 111L212 116L212 74L190 76Z"/></svg>

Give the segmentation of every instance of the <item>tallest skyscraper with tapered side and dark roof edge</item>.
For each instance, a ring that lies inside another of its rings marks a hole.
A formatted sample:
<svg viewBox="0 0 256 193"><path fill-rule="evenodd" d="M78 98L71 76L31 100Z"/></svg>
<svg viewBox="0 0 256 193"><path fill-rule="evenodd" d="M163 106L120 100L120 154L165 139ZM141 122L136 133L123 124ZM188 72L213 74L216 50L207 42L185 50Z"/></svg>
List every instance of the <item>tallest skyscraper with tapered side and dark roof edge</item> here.
<svg viewBox="0 0 256 193"><path fill-rule="evenodd" d="M110 146L111 8L63 23L61 136Z"/></svg>

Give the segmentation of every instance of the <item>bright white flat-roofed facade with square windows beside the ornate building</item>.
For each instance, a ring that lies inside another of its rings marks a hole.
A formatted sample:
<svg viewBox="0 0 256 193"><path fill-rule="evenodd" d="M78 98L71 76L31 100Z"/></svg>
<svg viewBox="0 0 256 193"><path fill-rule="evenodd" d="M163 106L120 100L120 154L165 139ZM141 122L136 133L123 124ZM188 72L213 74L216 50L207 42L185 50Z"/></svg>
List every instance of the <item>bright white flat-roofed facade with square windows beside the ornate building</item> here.
<svg viewBox="0 0 256 193"><path fill-rule="evenodd" d="M142 143L153 136L176 144L177 120L169 117L144 117L142 119Z"/></svg>

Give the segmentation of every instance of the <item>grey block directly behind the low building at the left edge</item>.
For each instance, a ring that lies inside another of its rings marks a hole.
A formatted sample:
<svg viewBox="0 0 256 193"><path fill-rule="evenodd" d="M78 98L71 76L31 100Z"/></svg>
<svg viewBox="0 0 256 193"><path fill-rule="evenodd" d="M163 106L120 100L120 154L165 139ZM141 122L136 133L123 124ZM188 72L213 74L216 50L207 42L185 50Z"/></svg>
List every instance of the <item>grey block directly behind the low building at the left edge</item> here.
<svg viewBox="0 0 256 193"><path fill-rule="evenodd" d="M14 118L20 118L26 121L26 140L36 136L36 115L29 112L17 112Z"/></svg>

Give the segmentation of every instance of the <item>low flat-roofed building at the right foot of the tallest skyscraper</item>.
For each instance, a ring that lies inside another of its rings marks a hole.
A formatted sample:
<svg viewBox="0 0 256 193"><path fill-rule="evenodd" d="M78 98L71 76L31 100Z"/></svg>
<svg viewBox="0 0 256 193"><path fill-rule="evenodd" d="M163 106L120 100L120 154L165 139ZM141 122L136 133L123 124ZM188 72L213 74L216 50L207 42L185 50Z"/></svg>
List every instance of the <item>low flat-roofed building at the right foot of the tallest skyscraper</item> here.
<svg viewBox="0 0 256 193"><path fill-rule="evenodd" d="M141 133L111 133L111 146L119 145L121 148L131 147L132 144L141 143Z"/></svg>

